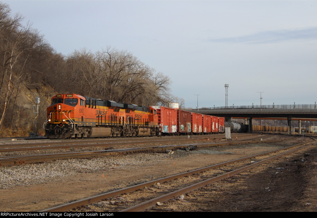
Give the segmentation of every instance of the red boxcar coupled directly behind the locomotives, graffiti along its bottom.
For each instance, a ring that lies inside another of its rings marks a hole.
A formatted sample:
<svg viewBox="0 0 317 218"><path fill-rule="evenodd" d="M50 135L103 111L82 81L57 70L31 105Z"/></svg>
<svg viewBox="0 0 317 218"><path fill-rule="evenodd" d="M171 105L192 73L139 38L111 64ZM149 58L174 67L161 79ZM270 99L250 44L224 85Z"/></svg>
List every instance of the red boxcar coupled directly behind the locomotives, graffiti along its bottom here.
<svg viewBox="0 0 317 218"><path fill-rule="evenodd" d="M159 119L159 128L162 134L176 134L177 132L177 109L155 107Z"/></svg>

